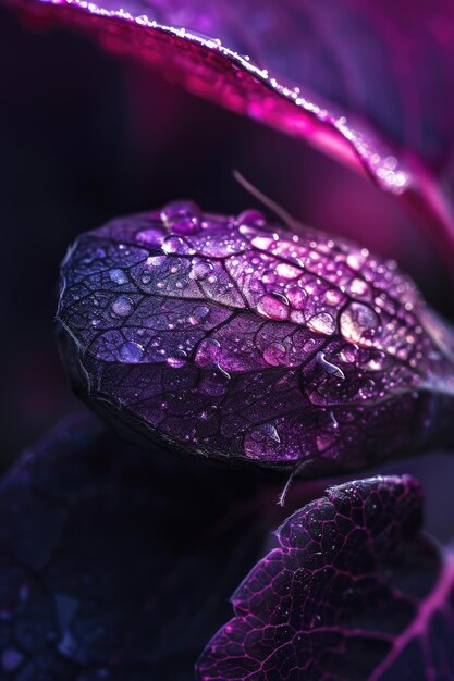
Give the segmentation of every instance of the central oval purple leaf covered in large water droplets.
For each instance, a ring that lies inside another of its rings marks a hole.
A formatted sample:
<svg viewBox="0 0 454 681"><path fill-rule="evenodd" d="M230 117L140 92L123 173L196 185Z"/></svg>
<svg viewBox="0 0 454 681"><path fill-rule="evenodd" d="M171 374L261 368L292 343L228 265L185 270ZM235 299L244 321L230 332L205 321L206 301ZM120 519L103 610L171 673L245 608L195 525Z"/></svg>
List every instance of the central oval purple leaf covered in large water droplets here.
<svg viewBox="0 0 454 681"><path fill-rule="evenodd" d="M453 336L394 262L176 202L82 235L58 319L77 393L147 441L305 475L452 442Z"/></svg>

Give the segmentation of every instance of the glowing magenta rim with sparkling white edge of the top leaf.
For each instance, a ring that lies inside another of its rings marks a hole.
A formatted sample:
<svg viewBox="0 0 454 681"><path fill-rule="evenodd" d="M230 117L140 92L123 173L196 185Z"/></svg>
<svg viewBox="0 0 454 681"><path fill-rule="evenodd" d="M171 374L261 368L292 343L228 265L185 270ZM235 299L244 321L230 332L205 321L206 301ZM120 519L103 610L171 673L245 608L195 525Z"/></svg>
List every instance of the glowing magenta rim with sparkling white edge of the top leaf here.
<svg viewBox="0 0 454 681"><path fill-rule="evenodd" d="M364 125L353 127L302 92L283 85L249 58L185 27L162 25L146 15L108 10L84 0L9 0L38 21L57 20L94 33L111 52L138 58L162 70L189 91L287 134L303 137L336 160L370 176L414 210L447 258L454 251L454 216L439 179L412 150L405 163Z"/></svg>

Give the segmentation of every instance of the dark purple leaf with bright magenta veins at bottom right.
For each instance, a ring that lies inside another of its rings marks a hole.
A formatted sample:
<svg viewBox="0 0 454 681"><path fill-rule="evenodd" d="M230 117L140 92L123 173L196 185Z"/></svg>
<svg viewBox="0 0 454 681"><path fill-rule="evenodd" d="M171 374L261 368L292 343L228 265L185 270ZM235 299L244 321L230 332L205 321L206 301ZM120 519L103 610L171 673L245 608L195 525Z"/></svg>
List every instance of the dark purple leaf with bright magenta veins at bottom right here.
<svg viewBox="0 0 454 681"><path fill-rule="evenodd" d="M454 558L421 533L409 476L327 490L232 597L200 681L450 681Z"/></svg>

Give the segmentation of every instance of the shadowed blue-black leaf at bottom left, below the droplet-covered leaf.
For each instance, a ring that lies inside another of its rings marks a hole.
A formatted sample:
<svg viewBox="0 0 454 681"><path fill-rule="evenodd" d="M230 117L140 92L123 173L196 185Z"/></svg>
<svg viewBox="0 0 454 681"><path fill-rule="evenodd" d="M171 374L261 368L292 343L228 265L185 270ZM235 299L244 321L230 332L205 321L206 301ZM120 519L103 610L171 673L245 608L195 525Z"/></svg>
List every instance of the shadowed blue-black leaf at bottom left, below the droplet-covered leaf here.
<svg viewBox="0 0 454 681"><path fill-rule="evenodd" d="M247 475L189 463L87 417L20 459L0 484L2 681L194 679L270 505L257 513Z"/></svg>

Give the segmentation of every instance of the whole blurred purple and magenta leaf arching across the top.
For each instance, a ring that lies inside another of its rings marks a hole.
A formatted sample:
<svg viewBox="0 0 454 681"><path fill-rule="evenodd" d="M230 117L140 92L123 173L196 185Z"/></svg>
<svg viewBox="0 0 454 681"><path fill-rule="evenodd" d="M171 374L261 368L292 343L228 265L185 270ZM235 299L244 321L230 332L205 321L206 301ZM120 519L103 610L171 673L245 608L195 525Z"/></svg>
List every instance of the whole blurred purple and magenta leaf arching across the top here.
<svg viewBox="0 0 454 681"><path fill-rule="evenodd" d="M452 258L454 221L435 179L453 156L450 0L10 2L366 170L416 207Z"/></svg>

